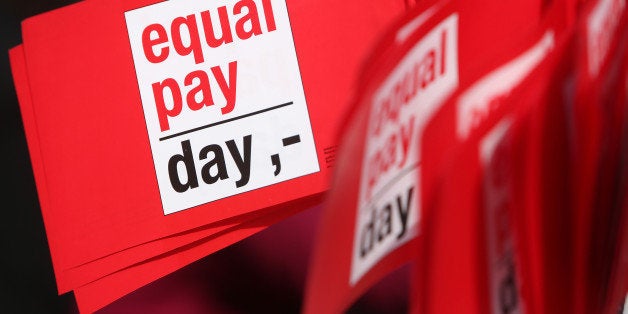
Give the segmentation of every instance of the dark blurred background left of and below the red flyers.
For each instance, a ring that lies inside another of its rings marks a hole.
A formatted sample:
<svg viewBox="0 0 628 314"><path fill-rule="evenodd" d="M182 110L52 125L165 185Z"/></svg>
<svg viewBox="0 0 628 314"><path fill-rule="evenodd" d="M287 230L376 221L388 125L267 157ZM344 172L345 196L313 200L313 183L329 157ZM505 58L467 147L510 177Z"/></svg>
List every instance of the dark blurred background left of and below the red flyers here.
<svg viewBox="0 0 628 314"><path fill-rule="evenodd" d="M78 313L57 295L8 50L20 22L75 1L0 1L0 113L3 184L0 312ZM104 308L101 313L298 313L321 208L303 212L201 259ZM350 313L404 313L406 268L366 293Z"/></svg>

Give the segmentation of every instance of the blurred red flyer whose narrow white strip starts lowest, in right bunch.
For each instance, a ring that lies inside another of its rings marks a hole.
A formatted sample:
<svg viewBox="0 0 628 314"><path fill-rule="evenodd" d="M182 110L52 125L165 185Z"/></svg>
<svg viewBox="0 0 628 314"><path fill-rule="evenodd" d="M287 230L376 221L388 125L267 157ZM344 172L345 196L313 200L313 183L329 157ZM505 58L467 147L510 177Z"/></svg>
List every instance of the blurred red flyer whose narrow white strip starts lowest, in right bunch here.
<svg viewBox="0 0 628 314"><path fill-rule="evenodd" d="M456 150L426 217L424 284L419 313L519 313L510 207L512 120L475 132ZM454 194L456 197L448 197ZM418 301L418 300L417 300ZM415 302L417 302L415 301Z"/></svg>

